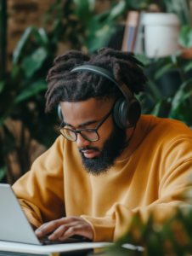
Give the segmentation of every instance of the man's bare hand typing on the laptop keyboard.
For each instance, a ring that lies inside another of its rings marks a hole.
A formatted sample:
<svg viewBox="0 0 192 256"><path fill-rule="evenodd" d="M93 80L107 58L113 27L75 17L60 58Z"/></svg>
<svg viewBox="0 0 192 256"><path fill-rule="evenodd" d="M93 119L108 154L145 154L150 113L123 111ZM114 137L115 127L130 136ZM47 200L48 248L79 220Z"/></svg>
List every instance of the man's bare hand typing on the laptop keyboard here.
<svg viewBox="0 0 192 256"><path fill-rule="evenodd" d="M45 236L51 232L54 233L48 236L49 240L59 239L60 241L64 241L73 235L85 236L93 240L92 226L80 217L59 218L42 224L35 231L37 237Z"/></svg>

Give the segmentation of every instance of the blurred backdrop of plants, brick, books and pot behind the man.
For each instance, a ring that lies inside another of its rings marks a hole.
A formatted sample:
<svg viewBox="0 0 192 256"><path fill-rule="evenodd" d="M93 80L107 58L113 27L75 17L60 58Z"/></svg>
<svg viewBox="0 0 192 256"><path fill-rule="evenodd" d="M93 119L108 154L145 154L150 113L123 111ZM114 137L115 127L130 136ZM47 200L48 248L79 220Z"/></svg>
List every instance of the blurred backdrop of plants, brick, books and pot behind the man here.
<svg viewBox="0 0 192 256"><path fill-rule="evenodd" d="M59 136L45 82L69 49L133 51L149 77L143 114L192 126L192 1L0 0L0 183L13 184Z"/></svg>

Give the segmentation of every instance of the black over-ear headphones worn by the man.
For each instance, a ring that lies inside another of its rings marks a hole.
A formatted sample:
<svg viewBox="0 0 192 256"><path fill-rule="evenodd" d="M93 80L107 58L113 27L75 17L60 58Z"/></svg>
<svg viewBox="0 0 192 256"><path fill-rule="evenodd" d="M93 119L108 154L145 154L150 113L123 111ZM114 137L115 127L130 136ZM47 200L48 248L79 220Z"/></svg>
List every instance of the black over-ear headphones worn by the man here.
<svg viewBox="0 0 192 256"><path fill-rule="evenodd" d="M113 118L116 122L116 125L118 125L121 129L127 129L137 124L141 115L140 103L136 97L133 96L133 93L128 89L127 85L124 84L121 80L117 81L114 79L113 74L110 73L110 71L102 67L83 65L75 67L71 70L71 72L91 72L110 79L114 84L117 85L125 97L118 98L113 108ZM58 115L59 119L63 120L60 105L58 107Z"/></svg>

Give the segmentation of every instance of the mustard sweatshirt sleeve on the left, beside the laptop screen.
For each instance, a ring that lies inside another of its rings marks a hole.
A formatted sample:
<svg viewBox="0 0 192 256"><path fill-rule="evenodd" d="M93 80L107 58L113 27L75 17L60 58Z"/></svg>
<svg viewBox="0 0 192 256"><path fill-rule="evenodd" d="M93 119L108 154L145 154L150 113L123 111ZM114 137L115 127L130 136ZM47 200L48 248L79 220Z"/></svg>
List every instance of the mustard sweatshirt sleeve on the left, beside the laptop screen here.
<svg viewBox="0 0 192 256"><path fill-rule="evenodd" d="M59 137L13 185L26 218L36 227L65 216L63 150Z"/></svg>

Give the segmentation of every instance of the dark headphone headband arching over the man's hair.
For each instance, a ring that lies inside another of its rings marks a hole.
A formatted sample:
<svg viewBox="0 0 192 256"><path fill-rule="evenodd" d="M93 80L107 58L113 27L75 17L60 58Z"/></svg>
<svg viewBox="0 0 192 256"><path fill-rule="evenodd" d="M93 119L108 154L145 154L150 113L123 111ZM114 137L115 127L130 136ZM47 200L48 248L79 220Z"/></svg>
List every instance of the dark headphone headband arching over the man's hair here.
<svg viewBox="0 0 192 256"><path fill-rule="evenodd" d="M124 84L121 80L117 81L116 79L114 79L113 74L110 73L109 70L107 70L103 67L83 65L83 66L73 68L71 70L71 73L86 72L86 71L90 71L91 73L96 73L96 74L99 74L99 75L105 77L106 79L110 79L110 81L112 81L114 84L116 84L117 87L119 88L119 90L121 90L121 93L125 96L127 101L133 97L133 93L131 92L131 90L128 89L127 85Z"/></svg>

